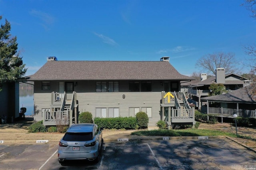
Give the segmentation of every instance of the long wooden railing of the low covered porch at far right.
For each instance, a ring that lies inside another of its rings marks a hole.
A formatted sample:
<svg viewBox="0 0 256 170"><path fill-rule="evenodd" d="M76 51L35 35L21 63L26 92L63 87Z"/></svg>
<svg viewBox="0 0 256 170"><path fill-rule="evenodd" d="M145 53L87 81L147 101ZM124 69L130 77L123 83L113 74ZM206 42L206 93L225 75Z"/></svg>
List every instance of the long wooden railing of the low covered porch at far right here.
<svg viewBox="0 0 256 170"><path fill-rule="evenodd" d="M202 112L213 114L213 115L223 115L226 117L233 117L236 114L238 117L253 117L256 118L256 109L255 110L246 110L246 109L226 109L226 108L216 108L209 107L207 112L207 107L202 106Z"/></svg>

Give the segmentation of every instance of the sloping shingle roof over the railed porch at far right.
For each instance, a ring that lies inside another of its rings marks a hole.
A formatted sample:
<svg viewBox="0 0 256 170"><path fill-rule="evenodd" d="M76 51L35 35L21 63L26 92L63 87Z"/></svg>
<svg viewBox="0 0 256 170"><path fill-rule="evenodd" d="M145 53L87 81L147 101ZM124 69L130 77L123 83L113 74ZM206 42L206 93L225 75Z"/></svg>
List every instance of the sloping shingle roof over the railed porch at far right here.
<svg viewBox="0 0 256 170"><path fill-rule="evenodd" d="M201 101L256 104L256 95L252 94L252 91L255 90L255 86L255 84L252 84L223 95L203 97Z"/></svg>

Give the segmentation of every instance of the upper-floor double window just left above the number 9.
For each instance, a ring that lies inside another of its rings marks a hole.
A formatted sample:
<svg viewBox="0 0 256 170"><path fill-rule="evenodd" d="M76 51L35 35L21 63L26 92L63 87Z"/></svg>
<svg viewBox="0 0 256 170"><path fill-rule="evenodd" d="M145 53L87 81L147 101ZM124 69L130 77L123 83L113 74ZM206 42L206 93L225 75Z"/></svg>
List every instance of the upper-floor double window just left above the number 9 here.
<svg viewBox="0 0 256 170"><path fill-rule="evenodd" d="M107 90L108 89L108 90ZM97 81L96 92L118 92L118 81Z"/></svg>

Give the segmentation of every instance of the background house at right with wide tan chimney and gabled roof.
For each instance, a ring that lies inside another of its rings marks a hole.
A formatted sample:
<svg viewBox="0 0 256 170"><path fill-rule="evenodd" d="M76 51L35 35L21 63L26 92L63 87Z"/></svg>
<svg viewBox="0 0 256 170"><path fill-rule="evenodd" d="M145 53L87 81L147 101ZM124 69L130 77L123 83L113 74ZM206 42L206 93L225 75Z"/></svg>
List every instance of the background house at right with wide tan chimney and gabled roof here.
<svg viewBox="0 0 256 170"><path fill-rule="evenodd" d="M204 79L198 83L191 83L189 86L188 98L192 99L189 102L196 104L199 110L201 109L201 106L205 104L201 103L201 99L202 97L207 97L210 94L209 87L212 83L223 84L226 87L226 90L230 92L242 87L246 87L247 85L250 85L252 81L234 73L225 74L224 68L216 69L215 77Z"/></svg>

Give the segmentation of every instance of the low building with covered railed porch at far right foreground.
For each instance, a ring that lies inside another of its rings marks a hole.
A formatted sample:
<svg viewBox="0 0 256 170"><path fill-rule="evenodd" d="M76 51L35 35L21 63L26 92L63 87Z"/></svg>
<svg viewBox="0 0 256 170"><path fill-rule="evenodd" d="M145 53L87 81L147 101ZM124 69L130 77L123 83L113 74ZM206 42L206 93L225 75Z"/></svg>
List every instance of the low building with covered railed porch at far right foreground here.
<svg viewBox="0 0 256 170"><path fill-rule="evenodd" d="M251 84L230 93L204 97L201 100L207 104L202 106L202 112L218 117L233 118L237 114L239 117L256 118L256 96L253 90L255 85Z"/></svg>

